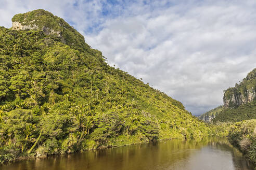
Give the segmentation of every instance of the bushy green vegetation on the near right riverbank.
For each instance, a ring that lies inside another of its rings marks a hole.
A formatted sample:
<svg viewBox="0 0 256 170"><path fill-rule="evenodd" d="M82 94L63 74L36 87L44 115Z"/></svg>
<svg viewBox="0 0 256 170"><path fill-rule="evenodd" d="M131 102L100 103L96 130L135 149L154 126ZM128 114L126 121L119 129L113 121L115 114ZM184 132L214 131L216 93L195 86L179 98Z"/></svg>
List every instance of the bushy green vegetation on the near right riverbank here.
<svg viewBox="0 0 256 170"><path fill-rule="evenodd" d="M230 127L228 139L256 164L256 119L237 122Z"/></svg>

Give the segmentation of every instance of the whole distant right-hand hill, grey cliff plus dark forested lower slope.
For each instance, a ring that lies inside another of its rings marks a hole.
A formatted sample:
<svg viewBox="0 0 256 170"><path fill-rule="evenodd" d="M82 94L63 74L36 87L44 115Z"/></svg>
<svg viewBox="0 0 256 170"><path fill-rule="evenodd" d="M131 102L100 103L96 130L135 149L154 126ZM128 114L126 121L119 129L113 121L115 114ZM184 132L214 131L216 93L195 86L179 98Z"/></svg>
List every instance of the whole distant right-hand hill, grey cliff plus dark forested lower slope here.
<svg viewBox="0 0 256 170"><path fill-rule="evenodd" d="M256 68L234 88L224 90L223 106L206 112L199 119L207 122L211 119L214 123L256 119Z"/></svg>

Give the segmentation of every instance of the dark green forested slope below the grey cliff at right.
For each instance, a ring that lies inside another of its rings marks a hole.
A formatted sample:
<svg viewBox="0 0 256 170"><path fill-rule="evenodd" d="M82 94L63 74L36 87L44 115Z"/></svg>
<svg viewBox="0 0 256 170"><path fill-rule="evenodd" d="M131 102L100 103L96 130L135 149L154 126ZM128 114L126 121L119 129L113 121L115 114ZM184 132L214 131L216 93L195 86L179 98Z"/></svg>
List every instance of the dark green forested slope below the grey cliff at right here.
<svg viewBox="0 0 256 170"><path fill-rule="evenodd" d="M213 119L213 123L221 122L239 122L242 120L256 119L256 101L246 103L233 109L223 109Z"/></svg>

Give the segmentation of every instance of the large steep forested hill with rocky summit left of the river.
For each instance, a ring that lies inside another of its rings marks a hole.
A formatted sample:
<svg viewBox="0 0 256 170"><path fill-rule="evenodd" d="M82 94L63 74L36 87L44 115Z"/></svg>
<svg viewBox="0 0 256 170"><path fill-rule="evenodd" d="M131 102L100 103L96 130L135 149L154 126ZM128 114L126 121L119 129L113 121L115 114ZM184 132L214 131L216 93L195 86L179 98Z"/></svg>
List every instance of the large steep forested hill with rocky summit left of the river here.
<svg viewBox="0 0 256 170"><path fill-rule="evenodd" d="M214 133L48 11L0 27L0 49L0 162Z"/></svg>

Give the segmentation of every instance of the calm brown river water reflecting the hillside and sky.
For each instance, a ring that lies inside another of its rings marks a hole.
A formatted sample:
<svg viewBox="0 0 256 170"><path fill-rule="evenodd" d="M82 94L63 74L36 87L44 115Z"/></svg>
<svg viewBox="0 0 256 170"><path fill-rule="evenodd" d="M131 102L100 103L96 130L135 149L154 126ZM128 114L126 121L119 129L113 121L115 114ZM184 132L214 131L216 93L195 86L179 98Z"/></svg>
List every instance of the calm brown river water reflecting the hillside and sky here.
<svg viewBox="0 0 256 170"><path fill-rule="evenodd" d="M53 169L253 169L242 154L225 139L168 140L67 156L18 161L1 170Z"/></svg>

